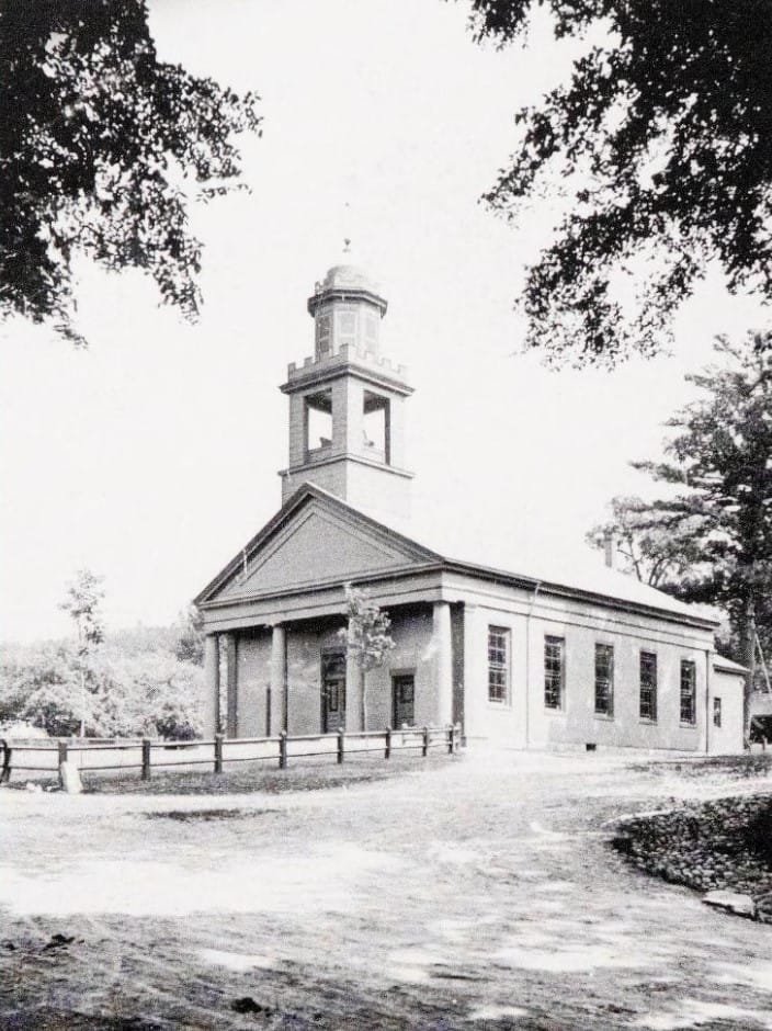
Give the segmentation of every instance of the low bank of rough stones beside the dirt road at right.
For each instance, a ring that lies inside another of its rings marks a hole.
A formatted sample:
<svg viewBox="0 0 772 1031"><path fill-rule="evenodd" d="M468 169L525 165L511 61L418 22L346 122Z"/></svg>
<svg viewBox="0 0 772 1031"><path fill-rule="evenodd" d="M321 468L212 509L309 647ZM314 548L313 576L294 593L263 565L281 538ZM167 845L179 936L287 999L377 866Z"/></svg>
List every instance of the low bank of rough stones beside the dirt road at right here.
<svg viewBox="0 0 772 1031"><path fill-rule="evenodd" d="M748 896L752 905L740 907L743 915L772 924L772 795L680 803L627 817L613 843L639 870L673 884ZM705 902L720 905L718 897Z"/></svg>

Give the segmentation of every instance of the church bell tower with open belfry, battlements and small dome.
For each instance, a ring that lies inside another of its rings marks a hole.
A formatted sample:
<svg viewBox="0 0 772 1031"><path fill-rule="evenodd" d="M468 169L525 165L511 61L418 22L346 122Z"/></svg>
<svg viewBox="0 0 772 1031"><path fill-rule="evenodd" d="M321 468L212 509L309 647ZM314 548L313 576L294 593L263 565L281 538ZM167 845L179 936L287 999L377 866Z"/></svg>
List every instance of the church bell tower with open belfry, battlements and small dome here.
<svg viewBox="0 0 772 1031"><path fill-rule="evenodd" d="M375 514L406 518L412 473L405 469L402 365L381 352L386 301L354 265L334 265L308 298L314 356L293 362L281 387L290 397L290 464L282 503L313 483Z"/></svg>

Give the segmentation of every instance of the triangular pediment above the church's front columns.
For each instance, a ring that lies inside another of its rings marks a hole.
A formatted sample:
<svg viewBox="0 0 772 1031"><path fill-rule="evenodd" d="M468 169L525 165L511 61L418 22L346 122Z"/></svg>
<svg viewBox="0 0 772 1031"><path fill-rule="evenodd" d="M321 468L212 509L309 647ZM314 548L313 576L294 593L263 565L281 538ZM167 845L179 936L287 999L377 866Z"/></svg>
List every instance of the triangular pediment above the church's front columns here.
<svg viewBox="0 0 772 1031"><path fill-rule="evenodd" d="M438 557L344 502L304 488L197 601L275 594L404 569Z"/></svg>

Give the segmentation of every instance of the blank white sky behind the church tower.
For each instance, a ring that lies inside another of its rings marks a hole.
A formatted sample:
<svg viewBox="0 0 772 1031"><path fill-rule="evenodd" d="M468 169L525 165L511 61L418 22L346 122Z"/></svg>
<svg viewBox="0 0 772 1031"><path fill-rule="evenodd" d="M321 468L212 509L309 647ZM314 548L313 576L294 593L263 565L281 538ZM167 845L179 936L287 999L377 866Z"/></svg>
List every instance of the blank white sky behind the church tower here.
<svg viewBox="0 0 772 1031"><path fill-rule="evenodd" d="M279 508L286 365L313 353L306 299L342 260L389 303L385 351L408 365L416 505L511 534L532 558L583 548L614 495L650 492L716 333L762 325L712 274L673 354L613 372L520 353L512 306L548 238L480 195L515 146L513 114L565 75L574 44L476 46L442 0L150 0L162 59L257 90L240 192L196 206L205 304L195 325L139 273L78 268L75 350L0 327L0 639L68 632L75 571L104 577L109 626L169 623ZM343 259L343 238L352 239ZM481 516L485 516L481 522ZM600 559L599 559L600 560Z"/></svg>

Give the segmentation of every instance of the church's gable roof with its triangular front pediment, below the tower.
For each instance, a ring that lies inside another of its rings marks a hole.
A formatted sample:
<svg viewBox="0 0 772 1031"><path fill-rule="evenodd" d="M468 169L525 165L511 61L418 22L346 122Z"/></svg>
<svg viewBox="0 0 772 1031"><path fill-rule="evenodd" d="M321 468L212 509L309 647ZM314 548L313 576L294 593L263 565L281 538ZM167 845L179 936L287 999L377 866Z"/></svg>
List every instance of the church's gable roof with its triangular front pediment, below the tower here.
<svg viewBox="0 0 772 1031"><path fill-rule="evenodd" d="M421 519L421 516L423 518ZM454 518L455 517L455 518ZM340 582L367 574L444 566L534 590L644 609L681 622L715 626L718 620L663 591L608 568L589 548L552 546L531 568L515 555L512 539L492 532L480 510L477 519L434 509L410 520L384 522L382 516L304 484L195 599L236 601L263 590L309 588L320 580ZM280 553L281 551L281 558Z"/></svg>

